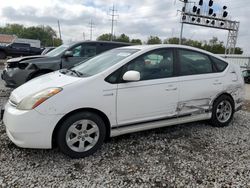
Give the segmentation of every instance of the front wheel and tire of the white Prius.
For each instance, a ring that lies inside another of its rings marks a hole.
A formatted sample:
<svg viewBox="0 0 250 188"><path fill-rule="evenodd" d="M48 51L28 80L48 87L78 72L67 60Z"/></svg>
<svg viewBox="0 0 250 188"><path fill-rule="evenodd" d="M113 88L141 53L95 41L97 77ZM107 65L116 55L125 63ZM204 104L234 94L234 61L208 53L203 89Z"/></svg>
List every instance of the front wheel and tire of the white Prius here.
<svg viewBox="0 0 250 188"><path fill-rule="evenodd" d="M79 112L61 124L56 141L65 155L82 158L95 153L102 146L105 136L106 127L101 117L91 112Z"/></svg>

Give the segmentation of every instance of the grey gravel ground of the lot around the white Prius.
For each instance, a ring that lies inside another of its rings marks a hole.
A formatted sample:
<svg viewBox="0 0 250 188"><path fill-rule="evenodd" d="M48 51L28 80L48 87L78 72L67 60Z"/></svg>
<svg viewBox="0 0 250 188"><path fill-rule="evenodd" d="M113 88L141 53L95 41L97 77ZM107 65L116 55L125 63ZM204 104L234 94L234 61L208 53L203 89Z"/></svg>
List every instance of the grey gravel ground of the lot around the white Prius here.
<svg viewBox="0 0 250 188"><path fill-rule="evenodd" d="M0 187L250 187L250 113L119 136L78 160L17 148L0 126L0 161Z"/></svg>

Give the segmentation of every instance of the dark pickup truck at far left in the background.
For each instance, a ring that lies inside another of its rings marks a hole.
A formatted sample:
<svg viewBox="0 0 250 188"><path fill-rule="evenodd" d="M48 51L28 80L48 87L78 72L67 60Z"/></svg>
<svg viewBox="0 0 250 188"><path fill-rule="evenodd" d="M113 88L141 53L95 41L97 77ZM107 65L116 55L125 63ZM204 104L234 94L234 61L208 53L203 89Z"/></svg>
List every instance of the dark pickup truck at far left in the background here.
<svg viewBox="0 0 250 188"><path fill-rule="evenodd" d="M41 48L31 47L27 43L11 43L7 46L0 46L0 59L6 59L7 56L19 57L41 54Z"/></svg>

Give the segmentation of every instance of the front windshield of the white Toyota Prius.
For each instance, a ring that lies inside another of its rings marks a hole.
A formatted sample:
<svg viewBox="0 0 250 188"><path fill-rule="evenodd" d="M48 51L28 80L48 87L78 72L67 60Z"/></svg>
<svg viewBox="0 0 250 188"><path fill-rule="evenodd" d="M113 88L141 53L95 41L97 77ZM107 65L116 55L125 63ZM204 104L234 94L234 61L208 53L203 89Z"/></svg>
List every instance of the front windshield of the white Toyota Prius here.
<svg viewBox="0 0 250 188"><path fill-rule="evenodd" d="M88 61L72 68L72 70L81 73L82 76L93 76L98 74L109 67L119 63L121 60L129 57L138 49L113 49L102 53Z"/></svg>

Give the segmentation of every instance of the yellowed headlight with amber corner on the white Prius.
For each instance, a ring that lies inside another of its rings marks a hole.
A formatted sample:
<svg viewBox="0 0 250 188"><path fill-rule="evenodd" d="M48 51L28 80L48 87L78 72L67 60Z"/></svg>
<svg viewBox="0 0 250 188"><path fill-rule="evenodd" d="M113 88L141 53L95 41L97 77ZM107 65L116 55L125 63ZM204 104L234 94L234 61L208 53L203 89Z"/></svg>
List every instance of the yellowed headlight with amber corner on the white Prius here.
<svg viewBox="0 0 250 188"><path fill-rule="evenodd" d="M39 91L25 97L20 103L17 104L16 108L19 110L32 110L60 91L62 91L62 88L48 88Z"/></svg>

